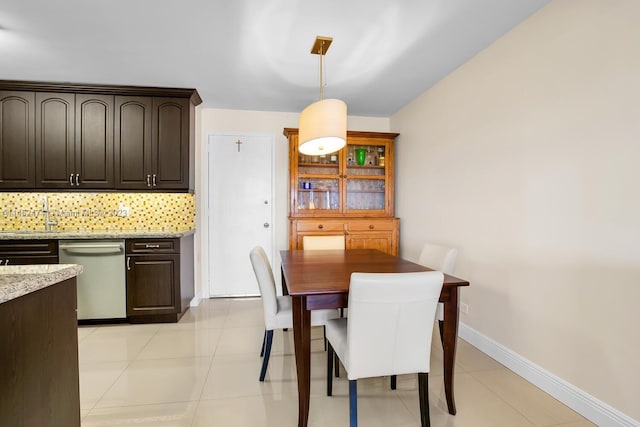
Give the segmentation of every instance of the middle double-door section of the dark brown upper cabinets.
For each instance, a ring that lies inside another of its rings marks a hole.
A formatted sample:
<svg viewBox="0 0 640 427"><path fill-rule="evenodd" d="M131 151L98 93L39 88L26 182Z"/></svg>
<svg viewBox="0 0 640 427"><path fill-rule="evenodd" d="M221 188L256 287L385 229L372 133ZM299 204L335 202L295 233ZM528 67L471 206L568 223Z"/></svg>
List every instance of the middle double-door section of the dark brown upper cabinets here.
<svg viewBox="0 0 640 427"><path fill-rule="evenodd" d="M36 186L113 188L113 96L36 93Z"/></svg>

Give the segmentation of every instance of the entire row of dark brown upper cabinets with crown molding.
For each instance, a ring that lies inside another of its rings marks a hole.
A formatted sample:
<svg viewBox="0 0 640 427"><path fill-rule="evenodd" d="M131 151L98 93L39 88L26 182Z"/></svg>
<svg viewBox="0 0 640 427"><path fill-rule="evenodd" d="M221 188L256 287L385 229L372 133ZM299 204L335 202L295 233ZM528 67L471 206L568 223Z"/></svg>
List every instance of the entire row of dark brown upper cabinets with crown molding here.
<svg viewBox="0 0 640 427"><path fill-rule="evenodd" d="M193 189L195 89L0 80L0 189Z"/></svg>

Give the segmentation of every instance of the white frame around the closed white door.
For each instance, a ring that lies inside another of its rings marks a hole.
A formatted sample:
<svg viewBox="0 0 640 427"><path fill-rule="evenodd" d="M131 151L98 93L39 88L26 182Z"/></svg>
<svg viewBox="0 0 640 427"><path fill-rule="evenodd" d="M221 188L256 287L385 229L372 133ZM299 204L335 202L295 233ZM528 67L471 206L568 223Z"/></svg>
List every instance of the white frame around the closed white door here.
<svg viewBox="0 0 640 427"><path fill-rule="evenodd" d="M200 198L201 202L198 204L199 206L197 206L196 211L197 214L200 216L200 218L202 218L202 220L200 221L200 228L202 230L202 241L201 241L201 262L200 262L200 277L202 278L202 287L201 287L201 291L202 291L202 295L200 296L202 299L209 299L211 298L211 284L210 284L210 277L211 277L211 273L210 273L210 269L211 269L211 263L209 263L207 260L209 259L209 254L211 253L210 248L209 248L209 234L210 234L210 230L209 230L209 178L211 175L211 171L209 170L209 151L211 150L211 138L212 137L224 137L224 136L229 136L229 137L233 137L233 138L242 138L242 137L251 137L251 138L265 138L265 139L269 139L269 144L271 145L270 147L270 154L271 154L271 253L268 253L267 255L269 256L269 260L271 262L271 268L273 269L273 263L274 263L274 256L277 253L276 250L276 241L275 241L275 236L277 236L276 233L276 227L277 227L277 221L275 220L275 215L276 215L276 203L275 203L275 156L276 156L276 152L275 152L275 137L272 134L267 134L267 133L255 133L255 132L207 132L206 133L206 139L205 139L205 144L204 144L204 150L203 150L203 154L204 154L204 158L201 161L201 165L202 165L202 188L201 188L201 194L202 197ZM249 260L249 254L247 254L247 260ZM275 274L276 272L274 271L274 276L276 276Z"/></svg>

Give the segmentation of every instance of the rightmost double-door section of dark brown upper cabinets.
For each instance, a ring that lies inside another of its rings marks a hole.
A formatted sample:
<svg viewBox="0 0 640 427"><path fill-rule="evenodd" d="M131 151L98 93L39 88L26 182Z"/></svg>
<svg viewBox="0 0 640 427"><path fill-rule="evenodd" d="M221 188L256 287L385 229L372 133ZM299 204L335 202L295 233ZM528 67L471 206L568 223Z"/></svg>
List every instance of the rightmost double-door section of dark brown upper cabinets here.
<svg viewBox="0 0 640 427"><path fill-rule="evenodd" d="M189 188L190 102L116 97L116 188Z"/></svg>

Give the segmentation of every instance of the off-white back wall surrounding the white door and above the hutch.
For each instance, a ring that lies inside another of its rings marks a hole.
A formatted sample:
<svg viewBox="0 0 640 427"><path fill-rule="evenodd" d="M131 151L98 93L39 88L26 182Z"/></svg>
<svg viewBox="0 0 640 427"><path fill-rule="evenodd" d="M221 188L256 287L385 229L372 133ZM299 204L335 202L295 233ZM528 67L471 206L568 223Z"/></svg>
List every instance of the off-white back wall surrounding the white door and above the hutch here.
<svg viewBox="0 0 640 427"><path fill-rule="evenodd" d="M274 165L274 186L275 186L275 248L276 250L288 248L288 216L289 216L289 143L282 134L285 127L298 127L298 113L265 112L265 111L241 111L204 108L199 111L199 139L196 147L196 202L198 206L197 229L205 230L206 225L199 223L205 218L203 196L201 191L204 188L203 177L207 176L206 167L206 143L210 134L248 134L248 135L271 135L274 137L275 145L275 165ZM349 117L348 128L351 130L368 130L377 132L389 131L388 118L370 117ZM207 249L205 247L205 236L198 233L200 243L196 242L200 257L206 259ZM204 283L208 280L206 272L196 265L202 276L197 284L198 295L207 295ZM278 273L278 272L276 272Z"/></svg>

